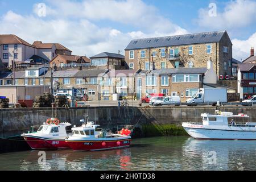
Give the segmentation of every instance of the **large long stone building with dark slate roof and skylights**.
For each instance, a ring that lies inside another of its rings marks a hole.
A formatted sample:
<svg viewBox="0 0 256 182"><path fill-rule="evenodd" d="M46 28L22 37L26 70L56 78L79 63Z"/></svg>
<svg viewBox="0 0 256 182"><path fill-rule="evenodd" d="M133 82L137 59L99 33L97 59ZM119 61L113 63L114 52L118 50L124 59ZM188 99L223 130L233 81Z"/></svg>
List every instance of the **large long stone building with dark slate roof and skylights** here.
<svg viewBox="0 0 256 182"><path fill-rule="evenodd" d="M232 75L232 42L226 31L131 40L125 48L130 69L207 67L216 74Z"/></svg>

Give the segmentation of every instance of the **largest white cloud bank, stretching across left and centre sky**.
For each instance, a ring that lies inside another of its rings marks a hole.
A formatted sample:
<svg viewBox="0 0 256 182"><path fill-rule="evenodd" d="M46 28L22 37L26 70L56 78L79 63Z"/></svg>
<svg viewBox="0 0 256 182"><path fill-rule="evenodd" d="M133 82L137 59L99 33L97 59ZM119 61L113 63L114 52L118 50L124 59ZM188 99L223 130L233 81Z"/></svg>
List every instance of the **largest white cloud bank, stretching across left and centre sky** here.
<svg viewBox="0 0 256 182"><path fill-rule="evenodd" d="M16 34L29 43L61 43L74 55L93 56L103 51L124 53L123 49L134 38L187 33L141 0L49 1L46 17L38 16L37 5L31 15L13 11L2 15L0 24L5 26L0 34ZM110 26L97 26L99 20L128 24L139 30L122 32Z"/></svg>

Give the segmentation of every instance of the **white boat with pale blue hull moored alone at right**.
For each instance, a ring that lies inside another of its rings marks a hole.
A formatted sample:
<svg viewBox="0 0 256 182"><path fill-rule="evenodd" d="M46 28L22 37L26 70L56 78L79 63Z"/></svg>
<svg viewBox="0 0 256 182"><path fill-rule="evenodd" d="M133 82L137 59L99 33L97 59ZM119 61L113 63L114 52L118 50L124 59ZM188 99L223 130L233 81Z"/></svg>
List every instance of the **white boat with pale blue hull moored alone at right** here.
<svg viewBox="0 0 256 182"><path fill-rule="evenodd" d="M182 126L191 137L196 139L241 139L256 140L256 122L249 122L243 113L215 111L214 114L201 114L203 122L183 122ZM236 120L241 123L236 123Z"/></svg>

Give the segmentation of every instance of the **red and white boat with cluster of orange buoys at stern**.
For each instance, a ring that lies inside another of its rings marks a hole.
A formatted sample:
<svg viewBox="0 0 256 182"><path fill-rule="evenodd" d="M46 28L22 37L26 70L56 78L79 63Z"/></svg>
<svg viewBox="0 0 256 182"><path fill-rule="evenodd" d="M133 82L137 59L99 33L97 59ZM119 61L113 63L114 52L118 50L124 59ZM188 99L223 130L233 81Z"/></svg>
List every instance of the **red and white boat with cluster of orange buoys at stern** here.
<svg viewBox="0 0 256 182"><path fill-rule="evenodd" d="M98 151L114 148L129 147L131 144L130 130L122 129L117 134L105 129L97 129L100 125L95 125L90 121L86 124L81 119L81 127L72 128L72 136L65 140L69 147L75 151Z"/></svg>

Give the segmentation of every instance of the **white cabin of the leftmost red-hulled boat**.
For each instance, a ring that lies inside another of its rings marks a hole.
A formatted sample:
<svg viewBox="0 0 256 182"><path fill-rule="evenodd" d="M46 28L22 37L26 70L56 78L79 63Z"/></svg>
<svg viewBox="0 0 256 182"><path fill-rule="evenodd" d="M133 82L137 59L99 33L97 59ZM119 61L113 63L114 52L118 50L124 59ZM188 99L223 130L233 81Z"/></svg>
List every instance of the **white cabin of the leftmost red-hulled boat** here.
<svg viewBox="0 0 256 182"><path fill-rule="evenodd" d="M37 134L45 134L45 135L66 135L71 133L71 123L60 123L59 125L51 124L51 125L41 125L36 131Z"/></svg>

